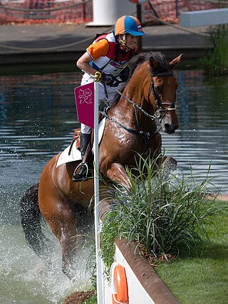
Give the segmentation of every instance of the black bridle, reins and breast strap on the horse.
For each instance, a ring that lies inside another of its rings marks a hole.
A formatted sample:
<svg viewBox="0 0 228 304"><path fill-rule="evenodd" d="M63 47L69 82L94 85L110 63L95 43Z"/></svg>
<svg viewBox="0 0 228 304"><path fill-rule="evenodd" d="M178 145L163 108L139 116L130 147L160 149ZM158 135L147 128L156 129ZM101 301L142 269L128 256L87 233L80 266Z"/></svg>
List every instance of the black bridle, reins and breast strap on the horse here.
<svg viewBox="0 0 228 304"><path fill-rule="evenodd" d="M121 93L119 90L114 89L122 98L127 100L128 103L133 105L133 107L135 108L135 117L136 117L136 123L137 123L138 130L126 127L122 123L115 120L115 118L110 117L107 114L107 111L106 112L101 112L101 114L103 116L107 117L111 122L114 122L116 125L119 125L120 127L122 127L124 130L126 130L126 131L128 131L132 134L135 134L135 135L142 135L143 137L145 137L145 139L150 140L152 138L152 136L155 134L155 131L157 130L157 127L155 128L155 130L152 130L150 132L139 131L140 130L140 123L139 123L137 110L140 110L140 112L142 112L143 115L145 115L146 117L149 117L151 120L155 120L157 118L160 118L160 122L162 122L162 120L165 117L165 115L167 114L167 112L176 110L175 102L174 103L162 103L157 91L155 90L155 85L154 85L154 82L153 82L153 77L155 77L155 76L165 77L165 76L170 76L170 75L173 75L173 72L172 72L172 70L167 70L167 69L163 70L163 71L160 71L160 73L155 73L155 72L151 73L150 88L148 90L148 100L150 100L150 94L152 92L152 95L155 98L155 103L157 105L157 108L155 109L155 114L153 114L153 115L150 115L149 113L147 113L145 110L142 109L142 107L140 107L140 105L137 105L136 103L134 103L132 100L127 98L125 95L123 95L123 93ZM170 107L167 108L167 109L163 109L162 108L163 105L169 105Z"/></svg>

